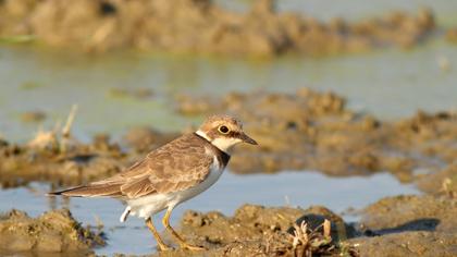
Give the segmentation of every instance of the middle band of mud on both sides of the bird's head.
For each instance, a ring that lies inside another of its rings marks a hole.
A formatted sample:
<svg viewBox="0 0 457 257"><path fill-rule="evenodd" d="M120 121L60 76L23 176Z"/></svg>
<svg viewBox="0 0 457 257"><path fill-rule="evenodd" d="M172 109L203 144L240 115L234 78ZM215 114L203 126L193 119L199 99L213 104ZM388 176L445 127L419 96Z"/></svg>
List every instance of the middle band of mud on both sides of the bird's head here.
<svg viewBox="0 0 457 257"><path fill-rule="evenodd" d="M230 164L236 173L317 170L347 176L391 172L402 182L417 181L428 192L455 187L456 113L419 111L411 118L382 122L347 109L345 101L333 93L307 88L293 94L233 93L176 100L181 114L231 113L244 121L259 147L237 148ZM79 143L69 132L41 132L22 145L3 139L0 181L4 187L28 181L87 183L120 172L177 135L138 127L123 137L127 146L123 149L108 135Z"/></svg>

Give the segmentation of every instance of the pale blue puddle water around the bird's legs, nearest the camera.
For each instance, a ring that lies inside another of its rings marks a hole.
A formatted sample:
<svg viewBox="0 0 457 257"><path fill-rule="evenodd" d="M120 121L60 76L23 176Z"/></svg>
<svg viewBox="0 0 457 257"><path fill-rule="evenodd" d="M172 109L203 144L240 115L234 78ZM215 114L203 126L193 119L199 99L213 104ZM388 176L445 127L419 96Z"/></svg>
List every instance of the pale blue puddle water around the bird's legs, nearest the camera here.
<svg viewBox="0 0 457 257"><path fill-rule="evenodd" d="M114 253L148 254L156 243L141 220L129 218L119 222L123 211L121 203L101 198L61 198L52 200L45 196L49 185L34 183L28 187L0 191L0 210L12 208L38 216L51 208L67 207L73 216L84 224L96 224L96 217L104 224L108 246L98 248L97 254ZM388 173L366 178L328 178L317 172L285 172L281 175L235 175L226 172L221 180L198 197L178 206L172 216L172 224L177 225L186 209L198 211L219 210L232 216L243 204L265 206L324 205L342 212L348 207L362 208L384 196L418 194L412 185L399 184ZM346 221L355 221L355 216L344 216ZM156 219L156 224L160 220Z"/></svg>

